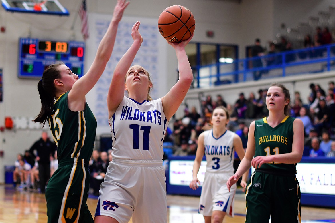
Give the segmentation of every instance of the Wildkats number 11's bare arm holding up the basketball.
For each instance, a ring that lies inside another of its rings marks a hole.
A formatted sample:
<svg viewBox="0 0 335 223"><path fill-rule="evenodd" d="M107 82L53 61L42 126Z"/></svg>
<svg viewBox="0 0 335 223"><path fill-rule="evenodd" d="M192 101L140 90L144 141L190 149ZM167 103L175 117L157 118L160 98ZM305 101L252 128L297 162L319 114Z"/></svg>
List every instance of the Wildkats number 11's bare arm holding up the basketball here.
<svg viewBox="0 0 335 223"><path fill-rule="evenodd" d="M180 43L167 41L176 50L179 71L179 80L171 88L171 90L161 98L163 111L167 120L170 120L170 118L176 113L193 80L191 65L185 52L185 46L190 42L193 35L194 34Z"/></svg>

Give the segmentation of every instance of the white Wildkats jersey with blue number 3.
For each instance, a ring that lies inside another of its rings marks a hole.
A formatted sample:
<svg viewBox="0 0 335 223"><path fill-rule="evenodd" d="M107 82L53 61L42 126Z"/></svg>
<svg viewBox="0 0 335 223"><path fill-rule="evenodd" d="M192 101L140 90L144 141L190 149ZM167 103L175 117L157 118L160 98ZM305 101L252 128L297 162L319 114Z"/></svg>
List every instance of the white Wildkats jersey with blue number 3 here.
<svg viewBox="0 0 335 223"><path fill-rule="evenodd" d="M220 137L213 136L213 130L204 132L204 147L207 160L206 172L233 174L235 132L226 130Z"/></svg>

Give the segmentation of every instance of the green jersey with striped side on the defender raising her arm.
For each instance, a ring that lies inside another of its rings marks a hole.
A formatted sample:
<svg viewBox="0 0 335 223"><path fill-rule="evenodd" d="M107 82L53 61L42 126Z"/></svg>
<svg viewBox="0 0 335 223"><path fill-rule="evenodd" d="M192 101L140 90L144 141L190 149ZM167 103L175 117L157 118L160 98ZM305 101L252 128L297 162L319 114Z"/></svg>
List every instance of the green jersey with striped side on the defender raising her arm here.
<svg viewBox="0 0 335 223"><path fill-rule="evenodd" d="M96 119L87 103L83 111L71 111L67 104L68 93L58 98L48 115L52 137L58 147L58 160L77 157L88 162L94 146Z"/></svg>

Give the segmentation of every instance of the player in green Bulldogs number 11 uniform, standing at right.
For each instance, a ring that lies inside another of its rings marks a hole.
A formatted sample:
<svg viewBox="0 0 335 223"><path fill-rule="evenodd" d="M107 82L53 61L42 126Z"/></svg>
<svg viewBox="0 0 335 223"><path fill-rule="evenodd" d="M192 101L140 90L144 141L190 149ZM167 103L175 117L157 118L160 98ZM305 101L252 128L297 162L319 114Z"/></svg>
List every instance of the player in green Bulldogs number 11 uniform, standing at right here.
<svg viewBox="0 0 335 223"><path fill-rule="evenodd" d="M252 165L246 190L246 222L301 222L300 187L295 177L296 163L304 150L304 125L289 115L289 91L272 84L266 96L269 116L250 124L246 155L230 187Z"/></svg>

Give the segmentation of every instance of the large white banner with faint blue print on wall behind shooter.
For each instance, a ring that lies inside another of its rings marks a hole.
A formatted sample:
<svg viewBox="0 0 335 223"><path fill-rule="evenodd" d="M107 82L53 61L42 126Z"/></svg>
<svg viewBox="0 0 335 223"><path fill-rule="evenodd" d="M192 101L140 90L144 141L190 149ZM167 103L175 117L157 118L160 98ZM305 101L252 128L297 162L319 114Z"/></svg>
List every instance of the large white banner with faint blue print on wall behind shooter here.
<svg viewBox="0 0 335 223"><path fill-rule="evenodd" d="M85 72L87 72L94 60L99 43L106 33L111 19L112 15L89 14L90 38L86 42L87 62L85 64ZM99 132L99 127L109 127L106 104L108 88L113 77L115 66L133 43L131 29L136 21L141 22L139 32L143 37L143 42L132 65L141 65L150 73L153 82L153 89L150 95L153 99L162 96L160 91L164 94L167 93L165 89L167 67L166 47L169 44L166 43L166 40L158 31L157 19L123 16L119 22L112 56L107 63L102 77L94 89L87 95L88 104L97 120L97 133Z"/></svg>

